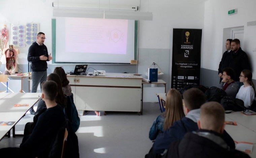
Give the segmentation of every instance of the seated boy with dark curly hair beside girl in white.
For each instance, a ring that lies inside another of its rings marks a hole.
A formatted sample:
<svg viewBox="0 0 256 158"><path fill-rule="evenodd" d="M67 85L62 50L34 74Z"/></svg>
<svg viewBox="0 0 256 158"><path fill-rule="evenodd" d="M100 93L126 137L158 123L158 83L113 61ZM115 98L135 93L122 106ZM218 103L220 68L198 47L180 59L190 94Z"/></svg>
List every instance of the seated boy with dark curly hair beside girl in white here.
<svg viewBox="0 0 256 158"><path fill-rule="evenodd" d="M232 68L224 68L222 80L219 86L219 88L223 89L227 93L227 96L231 96L233 98L235 98L239 90L237 83L233 80L234 77L235 72Z"/></svg>

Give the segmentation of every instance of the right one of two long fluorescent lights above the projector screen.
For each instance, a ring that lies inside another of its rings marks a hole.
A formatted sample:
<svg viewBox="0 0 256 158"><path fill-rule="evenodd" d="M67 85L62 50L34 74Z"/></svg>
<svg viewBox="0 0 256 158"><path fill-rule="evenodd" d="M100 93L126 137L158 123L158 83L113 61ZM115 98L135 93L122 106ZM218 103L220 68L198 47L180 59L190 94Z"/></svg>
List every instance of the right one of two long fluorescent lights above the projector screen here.
<svg viewBox="0 0 256 158"><path fill-rule="evenodd" d="M153 20L152 12L105 11L107 19Z"/></svg>

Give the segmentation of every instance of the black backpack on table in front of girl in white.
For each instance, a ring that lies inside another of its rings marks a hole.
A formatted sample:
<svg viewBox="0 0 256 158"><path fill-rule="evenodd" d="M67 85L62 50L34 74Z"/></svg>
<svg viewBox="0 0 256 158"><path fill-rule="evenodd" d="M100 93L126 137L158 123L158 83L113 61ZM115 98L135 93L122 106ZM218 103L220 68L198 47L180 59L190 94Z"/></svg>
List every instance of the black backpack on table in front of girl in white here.
<svg viewBox="0 0 256 158"><path fill-rule="evenodd" d="M221 105L225 110L232 111L244 111L246 107L244 106L244 101L238 98L233 98L231 96L224 96L221 99Z"/></svg>

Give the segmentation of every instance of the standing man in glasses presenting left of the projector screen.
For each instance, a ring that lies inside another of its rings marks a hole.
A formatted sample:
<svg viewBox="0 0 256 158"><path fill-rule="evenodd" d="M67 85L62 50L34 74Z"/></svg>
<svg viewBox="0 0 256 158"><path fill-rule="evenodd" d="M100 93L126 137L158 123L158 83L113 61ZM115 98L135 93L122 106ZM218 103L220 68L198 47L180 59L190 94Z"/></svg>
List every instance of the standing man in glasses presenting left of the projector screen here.
<svg viewBox="0 0 256 158"><path fill-rule="evenodd" d="M42 32L37 34L36 42L28 49L28 62L31 62L32 70L32 93L36 93L38 84L46 81L47 78L47 62L53 59L53 57L48 55L47 47L43 44L45 40L45 35ZM29 109L32 115L35 114L33 107Z"/></svg>

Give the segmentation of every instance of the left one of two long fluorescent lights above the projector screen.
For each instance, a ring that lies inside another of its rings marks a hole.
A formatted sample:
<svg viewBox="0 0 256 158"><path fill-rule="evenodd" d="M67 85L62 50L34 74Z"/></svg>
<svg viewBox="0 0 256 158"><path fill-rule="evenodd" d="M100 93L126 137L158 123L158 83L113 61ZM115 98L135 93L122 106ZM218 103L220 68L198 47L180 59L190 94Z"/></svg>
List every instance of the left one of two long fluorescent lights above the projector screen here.
<svg viewBox="0 0 256 158"><path fill-rule="evenodd" d="M85 17L85 18L103 18L103 10L85 10L85 9L63 9L54 8L53 16L57 17Z"/></svg>

